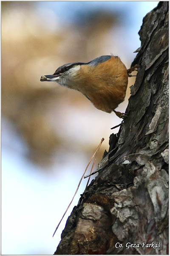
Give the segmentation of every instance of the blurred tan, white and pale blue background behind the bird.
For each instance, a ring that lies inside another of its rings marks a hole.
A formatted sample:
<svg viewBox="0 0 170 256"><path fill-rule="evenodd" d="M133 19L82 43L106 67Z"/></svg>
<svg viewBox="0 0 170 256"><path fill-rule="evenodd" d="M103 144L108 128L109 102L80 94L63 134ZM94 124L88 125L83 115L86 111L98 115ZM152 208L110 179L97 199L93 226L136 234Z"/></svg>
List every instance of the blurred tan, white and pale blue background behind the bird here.
<svg viewBox="0 0 170 256"><path fill-rule="evenodd" d="M1 1L1 254L54 253L87 179L52 235L89 159L104 137L99 163L110 134L119 131L110 128L122 121L79 92L40 77L110 53L130 68L142 19L157 4ZM126 110L134 81L129 78L118 111Z"/></svg>

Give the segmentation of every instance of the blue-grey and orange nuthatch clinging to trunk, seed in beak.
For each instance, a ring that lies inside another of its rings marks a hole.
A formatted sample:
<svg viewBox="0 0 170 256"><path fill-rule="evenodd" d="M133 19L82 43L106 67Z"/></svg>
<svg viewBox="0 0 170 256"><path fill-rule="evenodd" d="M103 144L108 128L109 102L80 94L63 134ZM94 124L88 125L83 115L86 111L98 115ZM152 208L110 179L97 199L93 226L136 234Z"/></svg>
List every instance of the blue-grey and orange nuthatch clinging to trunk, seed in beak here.
<svg viewBox="0 0 170 256"><path fill-rule="evenodd" d="M125 115L115 111L125 99L128 82L128 70L118 56L104 55L88 63L68 63L57 68L53 75L41 76L40 81L55 81L78 90L97 109L114 111L120 118Z"/></svg>

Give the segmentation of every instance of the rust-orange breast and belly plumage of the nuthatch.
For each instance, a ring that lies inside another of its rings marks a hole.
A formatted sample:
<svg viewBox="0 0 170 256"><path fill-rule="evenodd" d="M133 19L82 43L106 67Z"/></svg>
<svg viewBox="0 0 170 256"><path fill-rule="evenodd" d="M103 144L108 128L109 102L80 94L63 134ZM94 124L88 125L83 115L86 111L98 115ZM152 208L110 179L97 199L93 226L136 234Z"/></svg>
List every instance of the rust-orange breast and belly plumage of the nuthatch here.
<svg viewBox="0 0 170 256"><path fill-rule="evenodd" d="M127 89L127 69L119 57L96 67L83 67L83 84L79 89L99 110L111 113L124 101Z"/></svg>

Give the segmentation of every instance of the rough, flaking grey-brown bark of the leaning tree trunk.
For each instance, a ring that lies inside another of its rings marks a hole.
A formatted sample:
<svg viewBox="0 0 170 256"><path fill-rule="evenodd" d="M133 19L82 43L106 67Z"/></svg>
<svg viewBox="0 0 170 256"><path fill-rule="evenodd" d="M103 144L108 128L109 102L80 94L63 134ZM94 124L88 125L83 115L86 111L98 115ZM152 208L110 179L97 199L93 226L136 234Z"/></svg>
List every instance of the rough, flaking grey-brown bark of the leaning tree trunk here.
<svg viewBox="0 0 170 256"><path fill-rule="evenodd" d="M54 254L168 253L168 2L144 17L139 35L128 117Z"/></svg>

